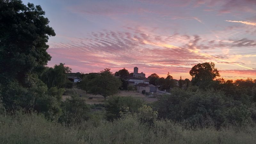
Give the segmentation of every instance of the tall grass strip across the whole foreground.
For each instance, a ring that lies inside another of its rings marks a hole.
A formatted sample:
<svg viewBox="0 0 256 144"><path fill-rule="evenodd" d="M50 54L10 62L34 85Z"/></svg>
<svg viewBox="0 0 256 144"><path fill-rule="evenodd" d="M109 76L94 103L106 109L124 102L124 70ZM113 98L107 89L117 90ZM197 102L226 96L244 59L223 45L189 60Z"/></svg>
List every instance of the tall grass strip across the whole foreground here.
<svg viewBox="0 0 256 144"><path fill-rule="evenodd" d="M256 128L214 128L186 130L171 121L156 121L154 126L141 124L136 116L114 122L84 121L64 126L47 121L37 114L0 115L0 143L92 143L92 144L155 144L155 143L255 143Z"/></svg>

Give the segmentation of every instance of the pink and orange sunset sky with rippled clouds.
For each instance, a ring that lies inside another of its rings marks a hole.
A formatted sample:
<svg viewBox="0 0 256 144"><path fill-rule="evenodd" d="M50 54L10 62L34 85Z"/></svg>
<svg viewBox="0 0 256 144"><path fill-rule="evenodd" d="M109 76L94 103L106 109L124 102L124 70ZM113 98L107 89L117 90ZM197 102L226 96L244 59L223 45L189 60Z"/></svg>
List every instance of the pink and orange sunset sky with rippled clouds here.
<svg viewBox="0 0 256 144"><path fill-rule="evenodd" d="M139 68L189 78L212 61L224 79L256 79L256 0L23 0L41 5L56 36L48 66L72 72Z"/></svg>

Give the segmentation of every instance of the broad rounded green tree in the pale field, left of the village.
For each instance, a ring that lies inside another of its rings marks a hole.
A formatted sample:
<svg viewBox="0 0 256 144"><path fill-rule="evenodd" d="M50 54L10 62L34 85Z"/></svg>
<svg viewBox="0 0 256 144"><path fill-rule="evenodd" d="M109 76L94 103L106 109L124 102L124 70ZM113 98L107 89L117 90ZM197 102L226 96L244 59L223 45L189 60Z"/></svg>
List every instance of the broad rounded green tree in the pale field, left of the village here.
<svg viewBox="0 0 256 144"><path fill-rule="evenodd" d="M89 80L86 84L88 93L100 94L106 97L115 94L121 86L121 81L110 72L110 68L100 71L99 76Z"/></svg>

